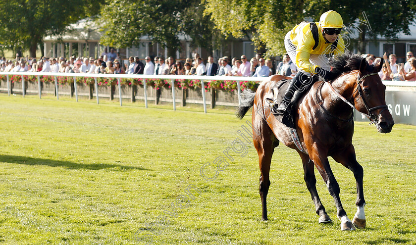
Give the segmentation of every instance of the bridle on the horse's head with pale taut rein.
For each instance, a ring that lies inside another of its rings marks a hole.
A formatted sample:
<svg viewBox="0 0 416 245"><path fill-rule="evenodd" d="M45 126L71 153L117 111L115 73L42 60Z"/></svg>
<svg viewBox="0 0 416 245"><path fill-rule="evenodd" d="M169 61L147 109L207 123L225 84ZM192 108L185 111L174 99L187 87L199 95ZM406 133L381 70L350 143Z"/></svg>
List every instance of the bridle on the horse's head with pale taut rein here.
<svg viewBox="0 0 416 245"><path fill-rule="evenodd" d="M366 74L366 75L364 75L364 76L362 76L361 78L360 78L360 75L358 75L357 76L357 88L356 88L356 90L354 91L354 93L353 93L353 95L352 95L352 97L351 97L351 100L353 100L354 101L354 98L356 97L355 95L357 94L357 90L358 90L358 94L360 95L360 97L359 98L357 98L355 101L358 101L360 98L362 98L363 99L363 103L364 103L364 106L365 106L365 108L367 109L367 111L368 111L368 114L366 114L366 113L364 113L364 112L361 112L361 111L359 111L356 107L355 107L355 105L353 105L352 103L350 103L350 101L348 101L346 98L344 98L342 95L340 95L335 89L334 89L334 87L332 87L332 84L331 83L329 83L328 82L328 84L329 84L329 88L331 88L331 90L335 93L335 95L336 96L338 96L339 98L341 98L345 103L347 103L348 105L350 105L351 106L351 108L353 108L353 109L356 109L358 112L360 112L362 115L364 115L364 116L366 116L368 119L370 119L370 124L375 124L376 126L378 126L378 117L381 115L381 113L383 112L383 111L385 111L385 110L387 110L387 105L378 105L378 106L374 106L374 107L369 107L368 106L368 103L367 103L367 101L365 100L365 98L364 98L364 91L363 91L363 88L362 88L362 86L361 86L361 83L364 81L364 78L366 78L366 77L369 77L369 76L373 76L373 75L377 75L378 76L378 73L369 73L369 74ZM322 106L321 106L322 107ZM381 111L380 111L380 113L378 113L378 115L375 115L375 114L373 114L372 113L372 111L374 111L374 110L377 110L377 109L382 109ZM326 110L325 110L326 111Z"/></svg>

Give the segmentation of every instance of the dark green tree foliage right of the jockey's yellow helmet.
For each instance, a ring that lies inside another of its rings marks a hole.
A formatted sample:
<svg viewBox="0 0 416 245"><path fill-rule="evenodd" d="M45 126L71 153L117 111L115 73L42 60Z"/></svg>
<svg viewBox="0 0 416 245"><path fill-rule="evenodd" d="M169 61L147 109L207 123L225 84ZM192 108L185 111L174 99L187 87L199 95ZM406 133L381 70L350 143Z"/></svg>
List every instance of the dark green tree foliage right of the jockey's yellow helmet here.
<svg viewBox="0 0 416 245"><path fill-rule="evenodd" d="M365 53L367 40L375 39L377 35L389 41L397 41L400 32L410 35L409 25L415 21L416 1L310 1L307 12L318 19L319 9L332 9L341 14L346 29L349 32L357 30L348 35L351 42L360 53Z"/></svg>

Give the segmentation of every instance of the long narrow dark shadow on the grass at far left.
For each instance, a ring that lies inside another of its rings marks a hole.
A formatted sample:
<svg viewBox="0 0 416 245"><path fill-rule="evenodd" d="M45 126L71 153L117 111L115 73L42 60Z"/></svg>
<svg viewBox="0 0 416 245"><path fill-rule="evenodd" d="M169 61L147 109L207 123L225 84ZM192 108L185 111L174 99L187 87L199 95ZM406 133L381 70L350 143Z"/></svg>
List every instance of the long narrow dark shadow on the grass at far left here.
<svg viewBox="0 0 416 245"><path fill-rule="evenodd" d="M148 170L141 167L132 167L124 166L118 164L82 164L75 163L70 161L58 161L52 159L42 159L42 158L33 158L26 156L12 156L12 155L0 155L0 162L8 163L18 163L26 165L47 165L51 167L66 167L68 169L90 169L90 170L99 170L99 169L114 169L114 170L126 170L126 169L138 169L138 170Z"/></svg>

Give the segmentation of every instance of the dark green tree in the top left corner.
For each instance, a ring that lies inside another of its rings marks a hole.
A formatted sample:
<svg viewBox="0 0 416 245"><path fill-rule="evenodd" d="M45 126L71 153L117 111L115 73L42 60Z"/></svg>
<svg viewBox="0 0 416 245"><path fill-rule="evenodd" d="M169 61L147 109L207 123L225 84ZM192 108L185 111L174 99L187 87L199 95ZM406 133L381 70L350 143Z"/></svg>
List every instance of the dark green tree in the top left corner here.
<svg viewBox="0 0 416 245"><path fill-rule="evenodd" d="M99 0L0 1L0 45L29 49L35 57L43 37L60 35L69 24L99 10Z"/></svg>

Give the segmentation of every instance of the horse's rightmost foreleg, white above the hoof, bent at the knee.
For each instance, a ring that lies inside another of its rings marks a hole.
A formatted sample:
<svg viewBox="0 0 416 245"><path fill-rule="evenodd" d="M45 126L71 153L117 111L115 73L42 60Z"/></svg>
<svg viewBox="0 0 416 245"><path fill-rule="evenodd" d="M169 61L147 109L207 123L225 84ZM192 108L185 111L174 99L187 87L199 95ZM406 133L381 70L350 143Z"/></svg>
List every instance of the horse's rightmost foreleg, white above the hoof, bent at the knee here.
<svg viewBox="0 0 416 245"><path fill-rule="evenodd" d="M353 223L357 228L365 228L365 214L364 214L364 189L363 189L363 167L357 162L354 146L351 145L347 150L333 155L335 161L341 163L354 173L357 182L357 212L354 215Z"/></svg>

